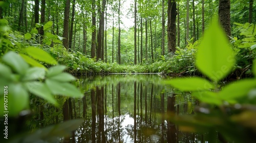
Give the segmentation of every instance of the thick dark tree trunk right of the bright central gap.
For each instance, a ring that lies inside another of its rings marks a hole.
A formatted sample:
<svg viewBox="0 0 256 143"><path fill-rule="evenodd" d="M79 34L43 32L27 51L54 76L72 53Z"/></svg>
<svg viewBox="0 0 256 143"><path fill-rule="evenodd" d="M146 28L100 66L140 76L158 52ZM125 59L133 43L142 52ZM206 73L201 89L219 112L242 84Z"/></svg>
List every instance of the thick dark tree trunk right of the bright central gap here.
<svg viewBox="0 0 256 143"><path fill-rule="evenodd" d="M176 1L168 0L168 52L176 51Z"/></svg>

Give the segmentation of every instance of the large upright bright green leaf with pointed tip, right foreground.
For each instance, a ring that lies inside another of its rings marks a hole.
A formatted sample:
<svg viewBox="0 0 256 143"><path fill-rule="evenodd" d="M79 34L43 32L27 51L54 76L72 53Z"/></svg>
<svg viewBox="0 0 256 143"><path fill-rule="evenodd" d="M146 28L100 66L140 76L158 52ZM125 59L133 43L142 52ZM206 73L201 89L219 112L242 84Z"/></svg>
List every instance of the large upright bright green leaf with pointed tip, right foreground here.
<svg viewBox="0 0 256 143"><path fill-rule="evenodd" d="M224 78L234 66L234 52L229 47L226 34L214 21L205 31L203 40L197 51L196 66L211 80L219 81Z"/></svg>

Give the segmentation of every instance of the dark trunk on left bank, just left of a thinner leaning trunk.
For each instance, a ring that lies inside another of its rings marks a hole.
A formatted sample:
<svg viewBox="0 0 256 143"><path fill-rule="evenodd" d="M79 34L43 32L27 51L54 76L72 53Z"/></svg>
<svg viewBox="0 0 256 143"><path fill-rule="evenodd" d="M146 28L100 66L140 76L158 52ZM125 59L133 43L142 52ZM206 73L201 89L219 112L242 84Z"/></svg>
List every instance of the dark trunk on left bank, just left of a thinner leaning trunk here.
<svg viewBox="0 0 256 143"><path fill-rule="evenodd" d="M69 11L70 11L70 0L66 0L66 6L64 11L64 26L63 26L63 46L69 49Z"/></svg>

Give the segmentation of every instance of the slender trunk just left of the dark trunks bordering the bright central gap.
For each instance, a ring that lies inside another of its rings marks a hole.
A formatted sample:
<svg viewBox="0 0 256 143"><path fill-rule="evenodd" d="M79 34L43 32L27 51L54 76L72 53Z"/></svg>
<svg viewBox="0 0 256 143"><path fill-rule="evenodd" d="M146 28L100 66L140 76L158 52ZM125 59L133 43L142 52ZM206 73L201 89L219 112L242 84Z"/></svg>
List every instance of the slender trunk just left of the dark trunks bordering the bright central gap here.
<svg viewBox="0 0 256 143"><path fill-rule="evenodd" d="M96 49L96 12L95 12L95 0L92 0L92 46L91 46L91 57L95 57L95 49Z"/></svg>

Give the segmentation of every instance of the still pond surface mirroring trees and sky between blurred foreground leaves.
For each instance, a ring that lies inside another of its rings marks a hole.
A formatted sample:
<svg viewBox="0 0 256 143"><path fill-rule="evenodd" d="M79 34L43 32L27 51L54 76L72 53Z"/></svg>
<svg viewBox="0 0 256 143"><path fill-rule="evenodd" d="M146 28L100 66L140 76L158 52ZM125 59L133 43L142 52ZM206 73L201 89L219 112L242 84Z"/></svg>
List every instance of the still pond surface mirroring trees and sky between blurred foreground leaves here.
<svg viewBox="0 0 256 143"><path fill-rule="evenodd" d="M170 115L193 113L195 100L162 85L162 79L159 75L79 78L84 97L68 99L63 118L83 118L84 123L69 142L205 142L207 133L181 132L169 121Z"/></svg>

